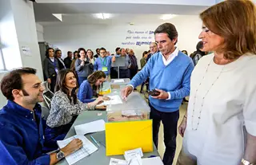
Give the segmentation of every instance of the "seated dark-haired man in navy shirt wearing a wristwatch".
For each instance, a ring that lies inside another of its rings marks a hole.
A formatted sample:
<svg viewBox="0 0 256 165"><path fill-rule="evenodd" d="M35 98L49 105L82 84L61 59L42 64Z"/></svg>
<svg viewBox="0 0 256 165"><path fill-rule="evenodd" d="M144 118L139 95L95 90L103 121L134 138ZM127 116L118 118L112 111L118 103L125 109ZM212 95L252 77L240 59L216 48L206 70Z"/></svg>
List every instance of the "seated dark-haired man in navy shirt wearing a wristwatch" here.
<svg viewBox="0 0 256 165"><path fill-rule="evenodd" d="M8 103L0 111L0 164L54 164L82 147L73 139L60 151L44 154L41 118L42 82L31 68L15 69L3 77L2 94Z"/></svg>

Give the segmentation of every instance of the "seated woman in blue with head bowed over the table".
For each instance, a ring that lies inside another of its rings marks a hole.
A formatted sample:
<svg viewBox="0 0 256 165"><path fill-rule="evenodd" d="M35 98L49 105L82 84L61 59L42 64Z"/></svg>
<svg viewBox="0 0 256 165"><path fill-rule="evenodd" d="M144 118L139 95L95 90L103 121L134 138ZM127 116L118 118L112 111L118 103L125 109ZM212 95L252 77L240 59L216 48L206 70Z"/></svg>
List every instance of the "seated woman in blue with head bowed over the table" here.
<svg viewBox="0 0 256 165"><path fill-rule="evenodd" d="M99 96L96 100L93 96L97 96L102 88L102 83L106 79L106 74L103 71L96 71L92 73L86 81L83 81L78 91L78 99L83 103L90 103L98 100L109 100L107 96Z"/></svg>

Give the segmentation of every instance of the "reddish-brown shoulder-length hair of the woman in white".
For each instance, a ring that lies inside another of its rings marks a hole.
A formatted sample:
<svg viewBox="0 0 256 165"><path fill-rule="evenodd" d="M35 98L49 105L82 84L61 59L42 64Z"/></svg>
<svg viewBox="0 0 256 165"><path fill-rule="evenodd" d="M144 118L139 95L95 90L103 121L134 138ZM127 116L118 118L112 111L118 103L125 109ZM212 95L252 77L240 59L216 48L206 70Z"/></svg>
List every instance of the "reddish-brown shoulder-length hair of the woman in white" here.
<svg viewBox="0 0 256 165"><path fill-rule="evenodd" d="M204 25L224 38L218 48L224 58L234 60L245 53L256 54L256 8L249 0L226 0L200 14Z"/></svg>

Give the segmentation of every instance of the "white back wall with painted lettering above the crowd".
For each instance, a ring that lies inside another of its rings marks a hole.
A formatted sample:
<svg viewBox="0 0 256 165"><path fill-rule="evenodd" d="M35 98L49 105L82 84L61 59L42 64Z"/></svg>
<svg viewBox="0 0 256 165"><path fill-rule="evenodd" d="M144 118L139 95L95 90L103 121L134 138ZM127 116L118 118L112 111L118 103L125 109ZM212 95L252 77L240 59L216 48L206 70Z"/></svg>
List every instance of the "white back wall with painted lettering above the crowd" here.
<svg viewBox="0 0 256 165"><path fill-rule="evenodd" d="M150 23L151 22L151 23ZM193 53L198 43L198 34L201 32L202 22L198 16L178 16L171 19L178 30L178 48L186 49ZM74 51L79 47L93 49L105 47L114 53L116 47L132 48L138 61L142 58L142 52L149 49L149 45L122 45L122 42L136 41L154 41L154 34L129 34L130 31L154 31L161 23L149 20L149 23L143 25L70 25L70 26L44 26L44 39L53 45L62 49L63 57L66 57L67 51ZM146 36L151 39L126 39L126 37Z"/></svg>

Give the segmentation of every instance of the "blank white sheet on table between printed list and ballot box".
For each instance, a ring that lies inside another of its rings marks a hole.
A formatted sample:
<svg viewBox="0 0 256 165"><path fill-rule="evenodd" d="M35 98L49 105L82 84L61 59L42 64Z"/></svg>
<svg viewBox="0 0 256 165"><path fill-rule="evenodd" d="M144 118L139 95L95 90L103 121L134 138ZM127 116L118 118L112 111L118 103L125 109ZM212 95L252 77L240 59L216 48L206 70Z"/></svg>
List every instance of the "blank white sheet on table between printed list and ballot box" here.
<svg viewBox="0 0 256 165"><path fill-rule="evenodd" d="M105 131L105 121L95 120L90 123L76 125L74 126L74 130L77 135L81 135L81 136L87 133L102 132L102 131Z"/></svg>

